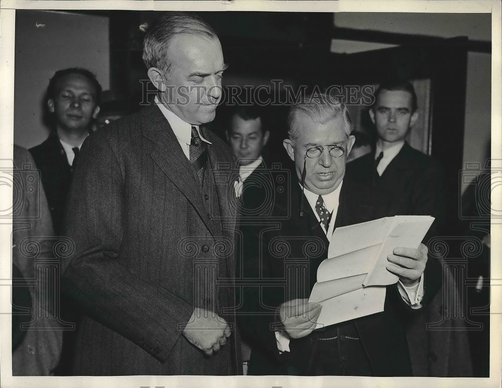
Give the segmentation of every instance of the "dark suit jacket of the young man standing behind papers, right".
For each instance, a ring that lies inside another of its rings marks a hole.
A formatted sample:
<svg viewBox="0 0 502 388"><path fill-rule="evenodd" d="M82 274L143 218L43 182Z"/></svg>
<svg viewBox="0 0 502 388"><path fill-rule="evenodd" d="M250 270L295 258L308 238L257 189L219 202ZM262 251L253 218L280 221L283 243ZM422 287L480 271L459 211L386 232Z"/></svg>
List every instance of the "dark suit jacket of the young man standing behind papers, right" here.
<svg viewBox="0 0 502 388"><path fill-rule="evenodd" d="M372 185L374 154L370 152L347 163L345 179ZM392 198L391 215L426 215L435 217L434 229L444 223L444 192L442 168L430 156L412 148L405 142L403 148L389 163L376 187Z"/></svg>

